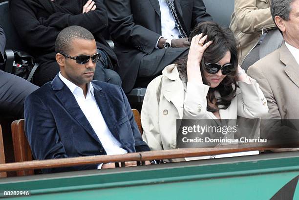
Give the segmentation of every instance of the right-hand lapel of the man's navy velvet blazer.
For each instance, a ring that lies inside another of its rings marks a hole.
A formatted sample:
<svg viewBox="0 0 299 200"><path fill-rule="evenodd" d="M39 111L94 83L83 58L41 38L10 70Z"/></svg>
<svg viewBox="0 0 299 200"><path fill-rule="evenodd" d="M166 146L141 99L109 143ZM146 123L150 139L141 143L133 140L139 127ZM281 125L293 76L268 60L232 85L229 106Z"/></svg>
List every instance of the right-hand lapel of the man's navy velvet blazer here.
<svg viewBox="0 0 299 200"><path fill-rule="evenodd" d="M97 104L99 106L99 109L102 113L102 116L107 124L108 129L112 133L112 135L120 141L119 134L117 133L117 129L115 126L115 120L111 112L110 104L107 99L107 94L101 89L100 86L93 84L92 86L94 88L94 97L97 101Z"/></svg>

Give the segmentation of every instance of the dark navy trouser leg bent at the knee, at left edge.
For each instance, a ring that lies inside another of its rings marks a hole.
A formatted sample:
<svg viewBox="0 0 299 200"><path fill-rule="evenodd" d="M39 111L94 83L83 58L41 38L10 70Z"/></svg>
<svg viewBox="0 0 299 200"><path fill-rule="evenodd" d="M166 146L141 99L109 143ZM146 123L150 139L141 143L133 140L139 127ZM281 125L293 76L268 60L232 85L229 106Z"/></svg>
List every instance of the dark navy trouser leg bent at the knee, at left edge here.
<svg viewBox="0 0 299 200"><path fill-rule="evenodd" d="M24 100L39 87L0 70L0 115L23 118Z"/></svg>

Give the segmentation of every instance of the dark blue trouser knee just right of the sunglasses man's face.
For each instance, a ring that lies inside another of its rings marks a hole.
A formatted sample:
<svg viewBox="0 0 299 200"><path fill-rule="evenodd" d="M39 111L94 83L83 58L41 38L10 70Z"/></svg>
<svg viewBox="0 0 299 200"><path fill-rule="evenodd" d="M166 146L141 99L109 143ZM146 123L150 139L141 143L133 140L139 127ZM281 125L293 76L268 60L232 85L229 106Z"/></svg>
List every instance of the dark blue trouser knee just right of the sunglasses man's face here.
<svg viewBox="0 0 299 200"><path fill-rule="evenodd" d="M93 79L121 86L122 81L120 76L115 71L107 69L107 54L100 49L98 49L98 52L101 54L101 58L96 65Z"/></svg>

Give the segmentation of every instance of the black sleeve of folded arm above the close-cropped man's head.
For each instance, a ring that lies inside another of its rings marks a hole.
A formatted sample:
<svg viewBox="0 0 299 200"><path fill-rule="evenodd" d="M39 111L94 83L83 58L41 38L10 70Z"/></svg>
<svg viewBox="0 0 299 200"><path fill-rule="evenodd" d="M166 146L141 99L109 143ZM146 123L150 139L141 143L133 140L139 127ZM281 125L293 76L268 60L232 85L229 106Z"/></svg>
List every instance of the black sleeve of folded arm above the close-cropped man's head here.
<svg viewBox="0 0 299 200"><path fill-rule="evenodd" d="M43 21L43 24L59 30L71 25L78 25L86 28L92 34L99 33L108 27L107 10L102 0L93 1L95 1L96 5L96 9L93 11L77 15L57 12Z"/></svg>

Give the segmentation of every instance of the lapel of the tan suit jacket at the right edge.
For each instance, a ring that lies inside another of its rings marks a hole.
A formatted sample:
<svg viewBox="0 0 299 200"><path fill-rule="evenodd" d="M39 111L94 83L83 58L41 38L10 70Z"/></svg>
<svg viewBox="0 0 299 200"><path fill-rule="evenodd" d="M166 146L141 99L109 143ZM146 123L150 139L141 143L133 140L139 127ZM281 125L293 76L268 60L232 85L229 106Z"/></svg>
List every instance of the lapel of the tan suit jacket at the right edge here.
<svg viewBox="0 0 299 200"><path fill-rule="evenodd" d="M285 43L279 49L279 58L285 64L285 73L299 87L299 65Z"/></svg>

